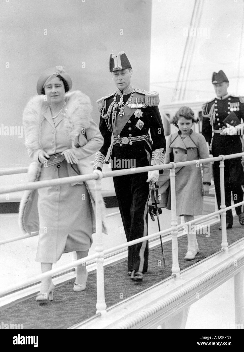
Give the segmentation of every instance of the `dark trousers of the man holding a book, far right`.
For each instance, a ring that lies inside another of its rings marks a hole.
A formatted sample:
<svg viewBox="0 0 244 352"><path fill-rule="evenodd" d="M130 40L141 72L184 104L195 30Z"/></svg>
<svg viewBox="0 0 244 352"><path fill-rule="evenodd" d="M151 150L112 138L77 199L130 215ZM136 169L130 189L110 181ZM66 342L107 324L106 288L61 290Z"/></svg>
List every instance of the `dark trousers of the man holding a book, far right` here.
<svg viewBox="0 0 244 352"><path fill-rule="evenodd" d="M221 136L220 134L214 134L212 143L213 157L221 154L234 154L242 152L242 144L238 136ZM227 159L224 161L224 180L225 180L225 205L226 207L231 206L231 191L233 195L234 203L243 201L243 189L244 174L243 166L241 164L241 158ZM220 197L220 168L219 162L213 164L213 177L215 193L220 209L221 197ZM236 207L236 213L239 215L242 212L242 206ZM233 224L232 210L226 212L226 222Z"/></svg>

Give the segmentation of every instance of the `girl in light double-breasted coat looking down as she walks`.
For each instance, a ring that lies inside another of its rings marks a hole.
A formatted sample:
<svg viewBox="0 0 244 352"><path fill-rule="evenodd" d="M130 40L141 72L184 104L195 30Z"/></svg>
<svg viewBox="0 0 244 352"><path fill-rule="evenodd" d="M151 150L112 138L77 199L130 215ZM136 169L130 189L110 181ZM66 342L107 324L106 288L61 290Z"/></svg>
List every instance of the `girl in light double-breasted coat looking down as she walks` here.
<svg viewBox="0 0 244 352"><path fill-rule="evenodd" d="M170 134L168 138L165 164L172 161L178 163L209 158L205 138L192 130L194 122L198 122L198 120L194 118L194 112L189 107L181 107L177 111L171 123L177 126L179 131ZM193 220L194 215L202 214L203 196L209 193L211 164L205 163L202 164L202 167L203 178L201 166L197 162L194 165L183 166L175 170L176 215L184 216L185 222ZM170 193L167 193L170 184L169 170L165 170L164 174L159 177L158 183L161 184L159 193L162 194L159 206L171 209ZM199 252L196 234L188 233L187 238L188 250L184 258L192 260Z"/></svg>

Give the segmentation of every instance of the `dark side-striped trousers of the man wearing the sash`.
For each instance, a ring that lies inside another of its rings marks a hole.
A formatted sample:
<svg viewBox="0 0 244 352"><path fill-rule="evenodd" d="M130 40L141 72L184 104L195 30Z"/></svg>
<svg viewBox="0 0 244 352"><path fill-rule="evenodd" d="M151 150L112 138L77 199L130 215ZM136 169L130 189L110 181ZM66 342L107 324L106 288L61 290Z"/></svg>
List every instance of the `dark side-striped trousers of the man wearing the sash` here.
<svg viewBox="0 0 244 352"><path fill-rule="evenodd" d="M112 160L133 160L133 167L149 166L149 152L144 145L128 148L114 146ZM128 165L129 167L129 165ZM122 167L123 168L123 167ZM113 167L113 170L121 169ZM113 177L115 194L123 221L127 241L148 235L148 173ZM128 249L128 270L148 270L148 241L130 246Z"/></svg>

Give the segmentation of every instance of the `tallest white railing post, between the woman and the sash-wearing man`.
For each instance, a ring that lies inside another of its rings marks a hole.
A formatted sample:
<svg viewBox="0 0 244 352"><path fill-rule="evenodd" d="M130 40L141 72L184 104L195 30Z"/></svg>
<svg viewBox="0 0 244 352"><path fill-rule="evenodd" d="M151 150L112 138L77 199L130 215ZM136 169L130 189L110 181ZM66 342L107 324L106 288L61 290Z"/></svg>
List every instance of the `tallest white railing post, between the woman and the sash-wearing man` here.
<svg viewBox="0 0 244 352"><path fill-rule="evenodd" d="M96 247L95 250L99 254L96 258L96 313L106 314L106 301L104 290L104 246L102 241L102 181L99 176L95 180L95 202L96 202Z"/></svg>

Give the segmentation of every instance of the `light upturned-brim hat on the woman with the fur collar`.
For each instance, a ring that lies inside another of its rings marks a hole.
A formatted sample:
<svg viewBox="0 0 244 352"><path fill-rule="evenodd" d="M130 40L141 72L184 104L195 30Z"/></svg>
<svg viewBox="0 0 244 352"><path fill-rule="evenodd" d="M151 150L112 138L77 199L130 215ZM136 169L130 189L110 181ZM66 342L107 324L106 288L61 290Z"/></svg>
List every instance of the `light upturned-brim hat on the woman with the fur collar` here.
<svg viewBox="0 0 244 352"><path fill-rule="evenodd" d="M41 95L42 89L45 86L45 84L51 81L53 78L57 77L57 75L60 75L65 79L65 81L68 83L69 89L72 88L72 81L71 81L70 75L68 75L68 73L65 71L63 66L56 66L45 70L40 75L36 85L37 93Z"/></svg>

